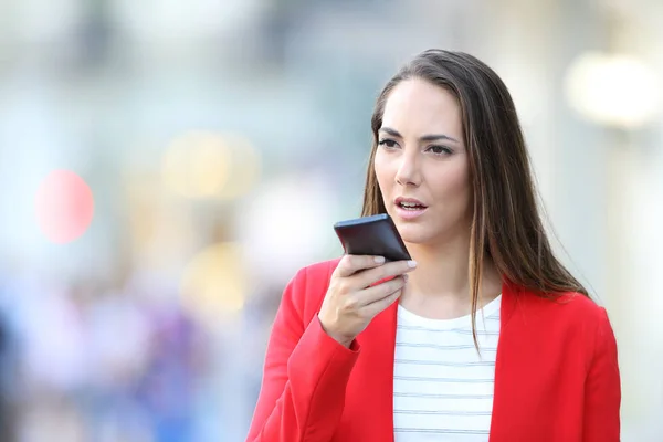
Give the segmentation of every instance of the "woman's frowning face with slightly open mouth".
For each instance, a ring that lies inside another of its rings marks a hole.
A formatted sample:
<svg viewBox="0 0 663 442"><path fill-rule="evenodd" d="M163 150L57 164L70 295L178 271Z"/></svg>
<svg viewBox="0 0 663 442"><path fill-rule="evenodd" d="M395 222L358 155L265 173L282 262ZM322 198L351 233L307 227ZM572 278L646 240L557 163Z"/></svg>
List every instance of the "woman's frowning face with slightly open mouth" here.
<svg viewBox="0 0 663 442"><path fill-rule="evenodd" d="M393 88L373 167L403 241L435 244L469 232L469 160L461 109L450 92L420 78Z"/></svg>

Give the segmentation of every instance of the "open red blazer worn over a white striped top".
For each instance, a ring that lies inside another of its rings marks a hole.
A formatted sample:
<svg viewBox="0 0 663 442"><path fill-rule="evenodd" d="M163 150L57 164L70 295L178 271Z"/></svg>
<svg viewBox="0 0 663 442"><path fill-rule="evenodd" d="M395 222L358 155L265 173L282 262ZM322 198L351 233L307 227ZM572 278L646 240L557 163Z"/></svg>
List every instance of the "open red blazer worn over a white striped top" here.
<svg viewBox="0 0 663 442"><path fill-rule="evenodd" d="M397 303L350 346L317 313L338 260L288 283L266 351L246 441L393 441ZM602 307L580 294L558 301L503 286L491 442L620 440L617 344Z"/></svg>

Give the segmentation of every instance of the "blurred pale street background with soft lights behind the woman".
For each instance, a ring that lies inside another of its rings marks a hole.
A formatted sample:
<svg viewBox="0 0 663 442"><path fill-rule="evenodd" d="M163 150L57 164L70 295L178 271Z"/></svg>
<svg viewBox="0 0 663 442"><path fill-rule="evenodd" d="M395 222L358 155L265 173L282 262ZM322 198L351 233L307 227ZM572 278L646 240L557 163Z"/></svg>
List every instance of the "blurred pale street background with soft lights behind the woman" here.
<svg viewBox="0 0 663 442"><path fill-rule="evenodd" d="M286 282L341 253L383 83L509 86L663 441L661 0L2 0L0 441L242 441Z"/></svg>

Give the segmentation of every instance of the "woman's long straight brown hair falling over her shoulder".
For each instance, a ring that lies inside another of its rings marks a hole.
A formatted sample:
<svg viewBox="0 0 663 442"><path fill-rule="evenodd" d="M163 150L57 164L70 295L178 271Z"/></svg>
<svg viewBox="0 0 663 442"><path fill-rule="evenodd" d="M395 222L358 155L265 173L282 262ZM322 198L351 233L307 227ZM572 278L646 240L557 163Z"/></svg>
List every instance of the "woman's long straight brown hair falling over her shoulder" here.
<svg viewBox="0 0 663 442"><path fill-rule="evenodd" d="M373 135L364 193L362 215L386 213L373 160L385 103L403 80L421 78L444 87L457 99L463 137L470 154L473 217L470 240L472 333L484 257L508 283L538 296L564 292L588 296L585 287L554 255L536 202L527 147L506 85L476 57L462 52L428 50L387 83L371 117Z"/></svg>

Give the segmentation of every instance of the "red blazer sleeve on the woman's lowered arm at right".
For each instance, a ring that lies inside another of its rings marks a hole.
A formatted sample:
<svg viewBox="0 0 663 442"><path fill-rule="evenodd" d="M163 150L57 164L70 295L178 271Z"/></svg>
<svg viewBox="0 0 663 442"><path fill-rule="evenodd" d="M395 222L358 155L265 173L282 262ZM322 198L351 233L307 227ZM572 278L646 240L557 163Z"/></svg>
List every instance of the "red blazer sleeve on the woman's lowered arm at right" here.
<svg viewBox="0 0 663 442"><path fill-rule="evenodd" d="M620 441L621 383L617 341L601 307L594 354L585 385L583 442Z"/></svg>

